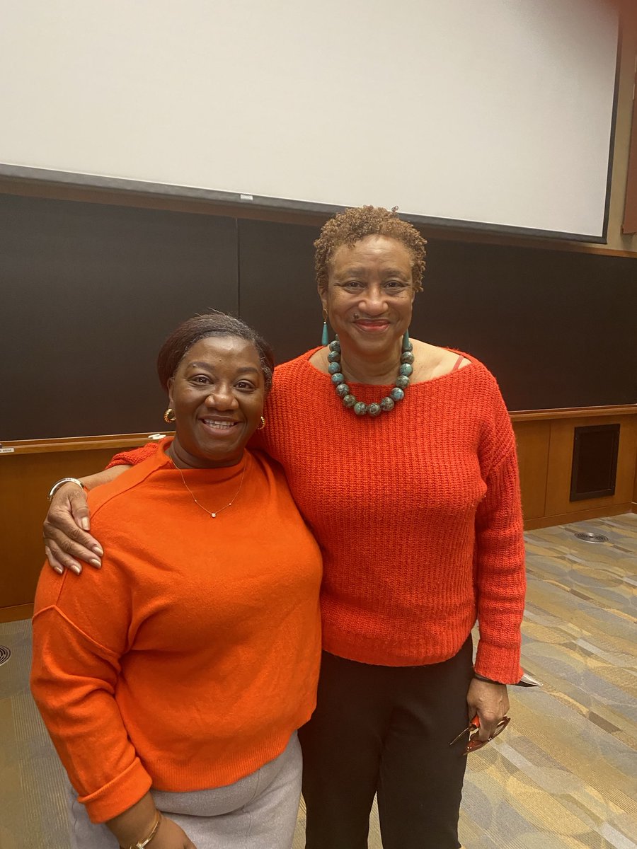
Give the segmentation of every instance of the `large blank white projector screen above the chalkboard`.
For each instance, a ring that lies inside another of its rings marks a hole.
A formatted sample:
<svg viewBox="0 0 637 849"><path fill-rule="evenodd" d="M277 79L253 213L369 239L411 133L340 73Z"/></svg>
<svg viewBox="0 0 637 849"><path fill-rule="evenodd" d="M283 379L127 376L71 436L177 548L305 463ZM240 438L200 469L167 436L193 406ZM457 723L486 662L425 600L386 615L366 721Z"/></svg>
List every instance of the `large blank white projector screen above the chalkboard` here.
<svg viewBox="0 0 637 849"><path fill-rule="evenodd" d="M0 172L600 240L617 41L602 0L5 2Z"/></svg>

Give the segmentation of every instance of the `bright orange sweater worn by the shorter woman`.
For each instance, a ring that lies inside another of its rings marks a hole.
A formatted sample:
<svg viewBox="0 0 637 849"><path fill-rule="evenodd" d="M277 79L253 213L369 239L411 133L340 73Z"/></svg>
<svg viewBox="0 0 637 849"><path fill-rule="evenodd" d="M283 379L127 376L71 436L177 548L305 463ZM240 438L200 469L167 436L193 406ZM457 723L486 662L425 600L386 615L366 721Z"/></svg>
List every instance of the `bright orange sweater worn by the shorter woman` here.
<svg viewBox="0 0 637 849"><path fill-rule="evenodd" d="M47 567L37 587L31 688L90 817L151 784L203 790L284 750L315 704L318 546L285 476L259 453L184 470L159 451L89 497L104 567Z"/></svg>

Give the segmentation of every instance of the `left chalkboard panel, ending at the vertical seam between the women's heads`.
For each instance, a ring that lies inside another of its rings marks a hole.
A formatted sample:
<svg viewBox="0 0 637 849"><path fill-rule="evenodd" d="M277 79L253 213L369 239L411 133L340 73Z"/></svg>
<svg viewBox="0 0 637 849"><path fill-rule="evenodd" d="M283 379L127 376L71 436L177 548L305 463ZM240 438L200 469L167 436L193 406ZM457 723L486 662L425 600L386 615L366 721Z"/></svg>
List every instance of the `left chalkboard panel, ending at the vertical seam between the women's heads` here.
<svg viewBox="0 0 637 849"><path fill-rule="evenodd" d="M0 196L0 441L166 427L162 341L236 311L231 218Z"/></svg>

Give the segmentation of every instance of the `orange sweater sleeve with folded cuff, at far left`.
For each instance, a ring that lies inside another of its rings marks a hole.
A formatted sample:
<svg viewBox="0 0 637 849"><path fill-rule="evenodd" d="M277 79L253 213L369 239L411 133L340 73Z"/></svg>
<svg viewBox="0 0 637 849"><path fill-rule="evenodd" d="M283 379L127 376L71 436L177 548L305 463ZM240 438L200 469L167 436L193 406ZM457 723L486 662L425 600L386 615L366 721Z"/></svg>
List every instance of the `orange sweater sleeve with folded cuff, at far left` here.
<svg viewBox="0 0 637 849"><path fill-rule="evenodd" d="M96 593L88 586L90 570L82 587L65 577L63 588L48 571L37 589L31 691L79 801L93 822L104 822L151 784L115 699L127 605L104 589L112 568L104 568Z"/></svg>

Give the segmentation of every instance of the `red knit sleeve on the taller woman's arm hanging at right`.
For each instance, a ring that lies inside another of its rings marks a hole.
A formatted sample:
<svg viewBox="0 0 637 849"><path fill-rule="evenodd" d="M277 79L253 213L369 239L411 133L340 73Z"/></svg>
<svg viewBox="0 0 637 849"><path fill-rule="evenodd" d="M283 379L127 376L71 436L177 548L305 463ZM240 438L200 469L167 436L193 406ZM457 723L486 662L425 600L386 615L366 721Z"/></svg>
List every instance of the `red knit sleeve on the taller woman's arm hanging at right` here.
<svg viewBox="0 0 637 849"><path fill-rule="evenodd" d="M502 683L521 677L526 572L516 440L497 392L484 450L487 492L476 514L476 672Z"/></svg>

